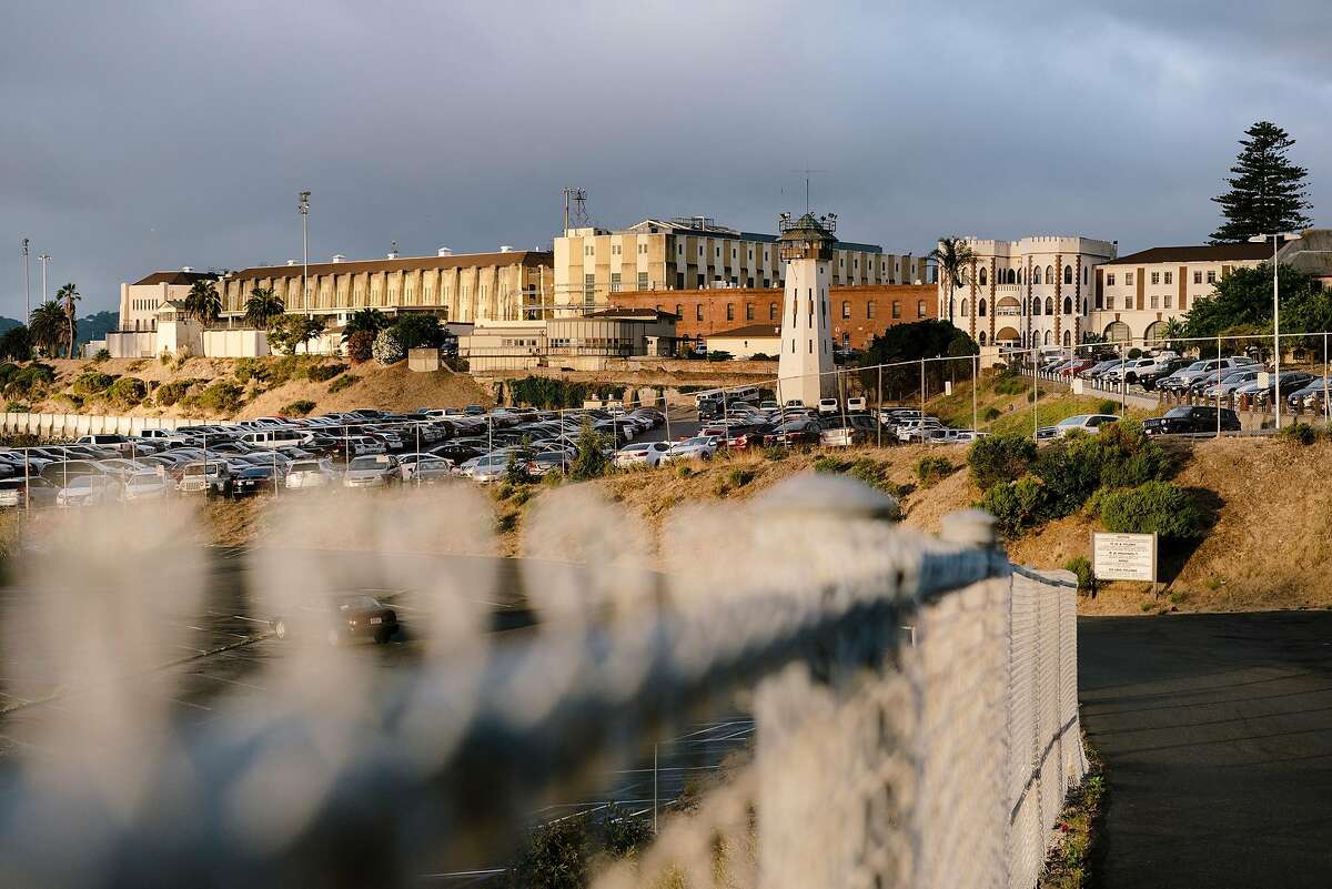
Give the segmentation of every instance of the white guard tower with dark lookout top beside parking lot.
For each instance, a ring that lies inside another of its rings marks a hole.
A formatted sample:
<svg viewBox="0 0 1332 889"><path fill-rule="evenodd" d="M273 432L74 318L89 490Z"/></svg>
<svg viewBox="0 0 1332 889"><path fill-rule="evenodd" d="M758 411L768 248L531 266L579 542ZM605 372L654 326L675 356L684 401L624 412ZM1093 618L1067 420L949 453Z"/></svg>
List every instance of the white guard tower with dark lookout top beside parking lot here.
<svg viewBox="0 0 1332 889"><path fill-rule="evenodd" d="M778 362L779 395L807 407L836 391L832 378L832 326L829 318L829 262L836 238L836 216L806 213L779 222L779 256L786 262L782 294L782 357Z"/></svg>

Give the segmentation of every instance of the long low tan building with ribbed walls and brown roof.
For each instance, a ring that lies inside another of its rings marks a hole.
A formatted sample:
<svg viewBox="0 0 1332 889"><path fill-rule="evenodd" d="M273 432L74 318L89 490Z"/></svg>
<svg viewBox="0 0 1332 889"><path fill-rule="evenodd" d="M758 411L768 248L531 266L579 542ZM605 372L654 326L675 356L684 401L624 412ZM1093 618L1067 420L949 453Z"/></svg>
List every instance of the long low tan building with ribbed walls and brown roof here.
<svg viewBox="0 0 1332 889"><path fill-rule="evenodd" d="M218 281L222 317L245 314L256 287L272 287L288 311L304 311L302 266L258 266L230 271ZM549 313L554 298L551 254L501 249L496 253L398 257L309 266L309 309L342 323L357 309L433 311L446 321L518 321Z"/></svg>

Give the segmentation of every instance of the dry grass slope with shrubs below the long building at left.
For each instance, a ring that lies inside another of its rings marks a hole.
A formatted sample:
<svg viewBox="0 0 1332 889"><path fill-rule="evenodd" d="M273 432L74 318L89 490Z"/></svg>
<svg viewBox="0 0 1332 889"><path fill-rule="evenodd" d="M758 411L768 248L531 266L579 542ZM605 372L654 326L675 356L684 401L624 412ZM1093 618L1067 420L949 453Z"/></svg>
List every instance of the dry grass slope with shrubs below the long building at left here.
<svg viewBox="0 0 1332 889"><path fill-rule="evenodd" d="M321 414L353 407L409 410L492 403L490 389L448 370L413 373L406 362L350 366L336 358L156 358L51 361L55 378L5 381L9 410L230 419Z"/></svg>

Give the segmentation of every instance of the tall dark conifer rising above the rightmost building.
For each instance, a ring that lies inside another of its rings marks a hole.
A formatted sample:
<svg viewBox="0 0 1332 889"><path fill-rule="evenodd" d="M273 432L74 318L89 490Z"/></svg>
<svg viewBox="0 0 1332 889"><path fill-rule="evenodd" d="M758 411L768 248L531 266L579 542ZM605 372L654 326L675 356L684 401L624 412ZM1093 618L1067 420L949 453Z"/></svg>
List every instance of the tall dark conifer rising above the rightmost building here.
<svg viewBox="0 0 1332 889"><path fill-rule="evenodd" d="M1225 221L1212 232L1212 244L1236 244L1255 234L1296 232L1313 225L1304 190L1308 170L1287 160L1295 145L1289 133L1268 121L1244 130L1239 157L1227 180L1231 190L1212 200L1221 205Z"/></svg>

